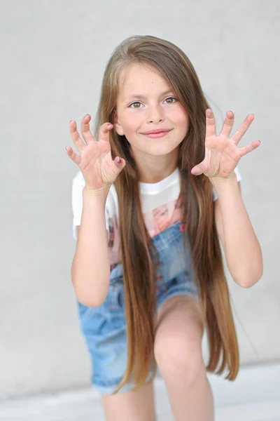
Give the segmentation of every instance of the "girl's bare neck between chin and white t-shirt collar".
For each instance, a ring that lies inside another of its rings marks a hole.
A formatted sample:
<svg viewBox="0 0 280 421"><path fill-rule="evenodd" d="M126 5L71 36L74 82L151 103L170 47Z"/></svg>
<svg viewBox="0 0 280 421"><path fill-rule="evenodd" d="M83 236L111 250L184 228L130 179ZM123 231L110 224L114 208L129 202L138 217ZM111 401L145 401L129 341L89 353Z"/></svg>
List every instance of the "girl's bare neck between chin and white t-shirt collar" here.
<svg viewBox="0 0 280 421"><path fill-rule="evenodd" d="M159 182L172 174L177 168L178 149L165 156L134 154L140 182Z"/></svg>

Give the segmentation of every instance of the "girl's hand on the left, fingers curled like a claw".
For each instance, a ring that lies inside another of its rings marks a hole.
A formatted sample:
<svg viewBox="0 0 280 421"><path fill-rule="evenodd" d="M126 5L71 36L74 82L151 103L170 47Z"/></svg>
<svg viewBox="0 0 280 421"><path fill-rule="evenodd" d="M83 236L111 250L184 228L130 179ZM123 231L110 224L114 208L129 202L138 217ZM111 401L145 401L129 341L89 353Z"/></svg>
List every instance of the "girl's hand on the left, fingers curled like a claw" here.
<svg viewBox="0 0 280 421"><path fill-rule="evenodd" d="M120 171L125 168L125 160L120 159L119 156L116 156L114 160L112 159L109 133L113 128L113 124L102 124L99 129L99 140L97 142L90 132L90 119L90 115L87 114L80 124L80 132L85 142L80 138L76 121L70 121L71 138L80 155L73 152L70 146L66 147L66 152L83 173L85 187L97 192L107 191L118 177Z"/></svg>

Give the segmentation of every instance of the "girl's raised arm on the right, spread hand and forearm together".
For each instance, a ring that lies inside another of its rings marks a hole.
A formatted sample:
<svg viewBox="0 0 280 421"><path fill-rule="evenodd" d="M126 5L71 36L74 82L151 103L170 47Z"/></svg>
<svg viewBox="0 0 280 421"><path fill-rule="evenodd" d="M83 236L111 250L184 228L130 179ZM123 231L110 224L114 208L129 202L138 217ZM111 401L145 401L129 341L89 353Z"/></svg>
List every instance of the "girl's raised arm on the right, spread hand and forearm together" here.
<svg viewBox="0 0 280 421"><path fill-rule="evenodd" d="M191 170L193 175L204 174L211 180L218 200L215 204L216 227L223 243L225 258L232 278L248 288L262 276L262 252L255 236L234 170L242 156L260 146L255 140L237 147L253 122L248 114L241 126L230 135L235 121L233 112L226 113L221 133L216 135L216 121L211 109L206 110L204 159Z"/></svg>

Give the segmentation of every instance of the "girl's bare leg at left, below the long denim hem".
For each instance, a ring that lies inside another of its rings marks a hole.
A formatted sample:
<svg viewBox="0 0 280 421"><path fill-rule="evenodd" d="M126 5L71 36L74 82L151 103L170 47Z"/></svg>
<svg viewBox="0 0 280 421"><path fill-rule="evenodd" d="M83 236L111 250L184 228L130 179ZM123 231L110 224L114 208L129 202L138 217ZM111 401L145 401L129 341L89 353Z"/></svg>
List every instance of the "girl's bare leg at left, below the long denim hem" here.
<svg viewBox="0 0 280 421"><path fill-rule="evenodd" d="M155 421L153 383L135 392L102 396L106 421Z"/></svg>

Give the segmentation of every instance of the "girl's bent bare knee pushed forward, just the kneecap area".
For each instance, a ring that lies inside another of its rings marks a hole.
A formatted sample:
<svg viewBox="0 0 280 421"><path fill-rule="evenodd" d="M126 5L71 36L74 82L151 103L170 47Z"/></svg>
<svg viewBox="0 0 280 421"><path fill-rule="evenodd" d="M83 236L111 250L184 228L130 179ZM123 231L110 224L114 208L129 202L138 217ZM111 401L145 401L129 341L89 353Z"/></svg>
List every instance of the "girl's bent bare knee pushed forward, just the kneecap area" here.
<svg viewBox="0 0 280 421"><path fill-rule="evenodd" d="M165 380L190 385L206 374L202 359L200 331L192 329L158 330L154 346L155 361Z"/></svg>

